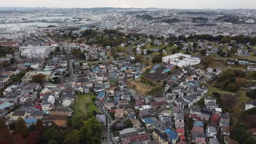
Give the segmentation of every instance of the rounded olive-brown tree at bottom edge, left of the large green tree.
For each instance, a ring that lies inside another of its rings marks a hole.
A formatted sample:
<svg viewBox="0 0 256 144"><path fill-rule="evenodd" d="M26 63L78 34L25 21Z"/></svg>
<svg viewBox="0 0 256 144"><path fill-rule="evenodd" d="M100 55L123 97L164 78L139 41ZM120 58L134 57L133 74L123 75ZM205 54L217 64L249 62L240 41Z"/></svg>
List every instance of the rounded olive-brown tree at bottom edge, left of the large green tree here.
<svg viewBox="0 0 256 144"><path fill-rule="evenodd" d="M64 144L79 144L82 134L77 129L71 131L71 133L65 136Z"/></svg>

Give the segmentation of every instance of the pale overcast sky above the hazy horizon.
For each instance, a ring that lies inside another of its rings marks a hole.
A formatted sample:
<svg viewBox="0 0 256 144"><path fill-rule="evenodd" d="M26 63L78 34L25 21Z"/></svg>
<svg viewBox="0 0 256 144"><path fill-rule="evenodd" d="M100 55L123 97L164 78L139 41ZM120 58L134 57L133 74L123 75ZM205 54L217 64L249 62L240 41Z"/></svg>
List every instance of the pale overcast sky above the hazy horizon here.
<svg viewBox="0 0 256 144"><path fill-rule="evenodd" d="M256 0L1 0L0 7L256 9Z"/></svg>

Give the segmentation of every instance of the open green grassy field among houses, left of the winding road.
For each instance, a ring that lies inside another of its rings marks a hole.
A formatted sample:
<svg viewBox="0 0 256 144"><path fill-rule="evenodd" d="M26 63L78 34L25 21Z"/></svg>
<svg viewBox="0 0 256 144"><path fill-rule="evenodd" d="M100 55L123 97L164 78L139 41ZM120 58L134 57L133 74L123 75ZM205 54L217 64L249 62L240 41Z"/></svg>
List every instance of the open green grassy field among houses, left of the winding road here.
<svg viewBox="0 0 256 144"><path fill-rule="evenodd" d="M96 95L76 94L74 102L74 114L83 115L83 113L86 112L98 112L98 109L94 104L94 98L96 98Z"/></svg>

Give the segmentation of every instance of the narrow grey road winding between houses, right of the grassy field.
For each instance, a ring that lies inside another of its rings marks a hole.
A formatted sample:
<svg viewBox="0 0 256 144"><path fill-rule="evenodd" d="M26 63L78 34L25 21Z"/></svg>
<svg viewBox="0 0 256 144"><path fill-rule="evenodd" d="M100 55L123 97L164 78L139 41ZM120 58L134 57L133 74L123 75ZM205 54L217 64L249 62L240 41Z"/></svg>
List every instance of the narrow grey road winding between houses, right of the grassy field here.
<svg viewBox="0 0 256 144"><path fill-rule="evenodd" d="M112 134L112 130L111 130L112 118L109 116L108 112L103 110L103 107L106 104L108 97L109 97L109 93L107 93L106 97L103 99L102 103L98 107L98 110L100 110L100 112L103 113L107 118L108 141L112 144L113 143L117 144L117 142L115 142L115 140L113 139L113 134Z"/></svg>

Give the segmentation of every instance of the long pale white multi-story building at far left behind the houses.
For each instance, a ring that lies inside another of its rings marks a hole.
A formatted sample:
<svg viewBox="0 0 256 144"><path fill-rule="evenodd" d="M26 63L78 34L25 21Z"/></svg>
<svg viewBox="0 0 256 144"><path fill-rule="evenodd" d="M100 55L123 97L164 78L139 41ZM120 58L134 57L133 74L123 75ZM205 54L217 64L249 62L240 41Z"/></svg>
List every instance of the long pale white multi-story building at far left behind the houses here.
<svg viewBox="0 0 256 144"><path fill-rule="evenodd" d="M54 50L54 46L22 46L19 48L21 56L26 58L45 58Z"/></svg>

